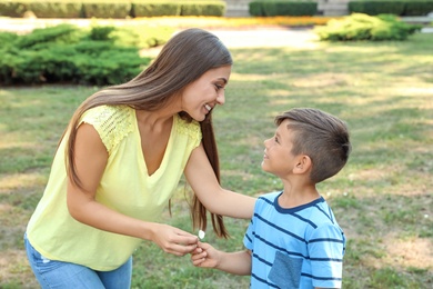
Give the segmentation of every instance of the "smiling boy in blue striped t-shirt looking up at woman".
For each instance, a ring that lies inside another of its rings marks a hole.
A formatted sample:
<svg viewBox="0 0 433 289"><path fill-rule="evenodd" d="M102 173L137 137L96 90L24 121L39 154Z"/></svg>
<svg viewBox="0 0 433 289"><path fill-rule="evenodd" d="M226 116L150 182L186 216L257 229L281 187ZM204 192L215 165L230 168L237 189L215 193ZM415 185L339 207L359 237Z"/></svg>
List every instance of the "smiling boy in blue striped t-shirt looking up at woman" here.
<svg viewBox="0 0 433 289"><path fill-rule="evenodd" d="M261 196L245 232L246 248L222 252L199 242L194 266L251 275L251 288L341 288L345 237L315 185L346 163L351 143L340 119L316 109L275 118L262 169L283 191Z"/></svg>

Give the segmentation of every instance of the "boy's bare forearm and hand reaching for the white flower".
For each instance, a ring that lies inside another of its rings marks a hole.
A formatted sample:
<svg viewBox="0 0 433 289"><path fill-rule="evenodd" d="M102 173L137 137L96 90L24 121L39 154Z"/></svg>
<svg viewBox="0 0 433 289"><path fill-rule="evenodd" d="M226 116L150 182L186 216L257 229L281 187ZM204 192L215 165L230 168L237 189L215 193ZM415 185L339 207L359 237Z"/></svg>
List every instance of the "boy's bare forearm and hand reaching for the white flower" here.
<svg viewBox="0 0 433 289"><path fill-rule="evenodd" d="M251 275L251 251L223 252L209 243L199 242L191 253L195 267L214 268L233 275Z"/></svg>

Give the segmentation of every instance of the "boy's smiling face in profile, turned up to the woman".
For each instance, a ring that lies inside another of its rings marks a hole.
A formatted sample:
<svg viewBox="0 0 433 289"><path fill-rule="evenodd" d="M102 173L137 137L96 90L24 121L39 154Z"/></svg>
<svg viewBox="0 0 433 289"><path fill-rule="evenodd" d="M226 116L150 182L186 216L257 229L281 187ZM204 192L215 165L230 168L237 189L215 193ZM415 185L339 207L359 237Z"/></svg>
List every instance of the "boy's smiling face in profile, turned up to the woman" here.
<svg viewBox="0 0 433 289"><path fill-rule="evenodd" d="M275 134L264 141L262 169L280 178L289 176L295 166L295 156L291 152L294 136L288 124L289 120L282 121Z"/></svg>

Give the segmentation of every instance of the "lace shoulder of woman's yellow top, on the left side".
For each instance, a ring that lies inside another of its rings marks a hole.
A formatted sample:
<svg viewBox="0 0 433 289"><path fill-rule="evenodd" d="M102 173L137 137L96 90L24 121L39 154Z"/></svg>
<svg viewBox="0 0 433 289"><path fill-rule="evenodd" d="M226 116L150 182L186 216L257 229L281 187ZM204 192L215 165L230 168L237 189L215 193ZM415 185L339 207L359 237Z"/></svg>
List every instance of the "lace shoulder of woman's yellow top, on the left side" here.
<svg viewBox="0 0 433 289"><path fill-rule="evenodd" d="M133 131L132 109L127 106L100 106L85 112L82 121L92 124L98 131L107 151Z"/></svg>

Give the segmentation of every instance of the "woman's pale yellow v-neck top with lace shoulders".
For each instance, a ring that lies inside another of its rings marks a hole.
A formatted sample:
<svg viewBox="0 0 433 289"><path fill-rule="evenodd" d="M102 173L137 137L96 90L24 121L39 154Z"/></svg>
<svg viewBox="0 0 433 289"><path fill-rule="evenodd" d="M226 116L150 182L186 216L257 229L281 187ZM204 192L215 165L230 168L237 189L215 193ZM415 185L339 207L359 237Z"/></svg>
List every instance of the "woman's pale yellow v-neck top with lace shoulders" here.
<svg viewBox="0 0 433 289"><path fill-rule="evenodd" d="M134 109L101 106L87 111L81 122L95 128L109 153L97 200L133 218L158 221L178 187L192 150L200 144L200 124L174 116L161 166L149 176ZM117 269L128 260L141 239L95 229L69 215L66 140L67 137L57 150L48 185L28 225L28 239L48 259L100 271Z"/></svg>

